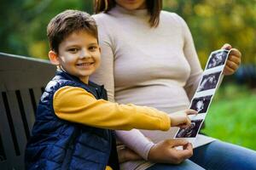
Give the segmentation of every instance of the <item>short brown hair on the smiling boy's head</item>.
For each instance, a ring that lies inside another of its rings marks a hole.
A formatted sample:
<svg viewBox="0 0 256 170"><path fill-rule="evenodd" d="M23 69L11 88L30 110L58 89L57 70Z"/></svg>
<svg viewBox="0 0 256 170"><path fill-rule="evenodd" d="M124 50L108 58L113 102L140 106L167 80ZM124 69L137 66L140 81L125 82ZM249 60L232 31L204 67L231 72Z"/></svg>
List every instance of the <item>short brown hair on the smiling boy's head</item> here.
<svg viewBox="0 0 256 170"><path fill-rule="evenodd" d="M74 31L88 31L98 40L96 21L85 12L79 10L65 10L49 21L47 37L49 48L58 53L60 43Z"/></svg>

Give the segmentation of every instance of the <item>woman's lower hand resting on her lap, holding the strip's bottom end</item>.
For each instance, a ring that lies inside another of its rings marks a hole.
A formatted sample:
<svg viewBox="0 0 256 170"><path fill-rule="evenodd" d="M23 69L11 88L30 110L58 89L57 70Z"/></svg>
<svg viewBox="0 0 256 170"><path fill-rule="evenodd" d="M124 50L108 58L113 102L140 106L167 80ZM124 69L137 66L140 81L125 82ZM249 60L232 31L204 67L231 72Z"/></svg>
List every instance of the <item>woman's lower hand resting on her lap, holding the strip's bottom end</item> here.
<svg viewBox="0 0 256 170"><path fill-rule="evenodd" d="M177 150L177 146L182 146L183 150ZM149 150L148 161L179 164L191 156L193 156L193 148L192 144L188 141L181 139L166 139L154 144Z"/></svg>

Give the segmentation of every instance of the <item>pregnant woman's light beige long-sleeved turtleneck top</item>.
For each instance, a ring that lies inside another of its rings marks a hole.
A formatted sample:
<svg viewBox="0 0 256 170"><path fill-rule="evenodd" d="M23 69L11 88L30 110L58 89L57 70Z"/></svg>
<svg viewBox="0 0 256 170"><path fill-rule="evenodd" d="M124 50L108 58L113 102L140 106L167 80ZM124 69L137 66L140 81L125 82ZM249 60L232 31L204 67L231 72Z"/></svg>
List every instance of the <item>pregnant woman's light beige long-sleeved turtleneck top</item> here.
<svg viewBox="0 0 256 170"><path fill-rule="evenodd" d="M108 14L93 17L99 31L102 65L91 79L105 85L110 100L148 105L170 114L188 109L202 70L191 33L181 17L161 11L156 28L149 26L146 9L128 11L116 6ZM154 143L172 139L176 131L175 127L167 132L133 129L117 131L117 135L147 159ZM210 141L199 136L195 145ZM128 161L121 167L145 169L150 165L148 161Z"/></svg>

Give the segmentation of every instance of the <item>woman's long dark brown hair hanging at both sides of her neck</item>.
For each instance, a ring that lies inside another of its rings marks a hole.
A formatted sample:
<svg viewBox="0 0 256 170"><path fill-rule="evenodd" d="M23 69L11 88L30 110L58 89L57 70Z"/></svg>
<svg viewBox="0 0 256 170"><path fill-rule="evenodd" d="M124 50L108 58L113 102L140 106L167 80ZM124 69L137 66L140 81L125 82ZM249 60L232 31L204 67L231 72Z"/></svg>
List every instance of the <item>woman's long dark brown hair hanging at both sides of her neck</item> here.
<svg viewBox="0 0 256 170"><path fill-rule="evenodd" d="M150 19L148 23L152 27L159 25L160 11L162 9L162 0L146 0L148 14L150 14ZM114 0L95 0L94 1L94 11L96 14L108 11L116 5Z"/></svg>

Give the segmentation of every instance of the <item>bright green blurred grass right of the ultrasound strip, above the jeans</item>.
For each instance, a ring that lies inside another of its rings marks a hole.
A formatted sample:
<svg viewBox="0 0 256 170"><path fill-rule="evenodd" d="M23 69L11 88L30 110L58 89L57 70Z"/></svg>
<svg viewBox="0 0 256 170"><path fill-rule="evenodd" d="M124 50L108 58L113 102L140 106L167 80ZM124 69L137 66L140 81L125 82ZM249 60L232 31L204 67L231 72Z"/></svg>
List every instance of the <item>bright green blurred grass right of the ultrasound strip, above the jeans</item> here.
<svg viewBox="0 0 256 170"><path fill-rule="evenodd" d="M221 87L212 100L202 132L256 150L256 91L233 84Z"/></svg>

